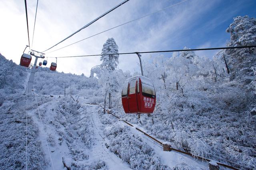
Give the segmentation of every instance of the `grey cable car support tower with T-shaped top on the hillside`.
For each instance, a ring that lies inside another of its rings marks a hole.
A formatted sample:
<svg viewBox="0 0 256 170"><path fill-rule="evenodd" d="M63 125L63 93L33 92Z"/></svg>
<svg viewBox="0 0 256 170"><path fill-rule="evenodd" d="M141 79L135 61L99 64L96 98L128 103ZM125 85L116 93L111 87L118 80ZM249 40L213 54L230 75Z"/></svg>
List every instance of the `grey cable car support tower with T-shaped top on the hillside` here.
<svg viewBox="0 0 256 170"><path fill-rule="evenodd" d="M44 53L41 53L41 52L38 52L38 51L35 51L35 50L31 50L30 55L36 57L36 59L35 59L34 66L32 66L30 77L28 79L28 86L27 86L27 89L26 89L26 90L28 90L28 94L31 94L31 92L32 92L34 77L35 77L35 73L36 73L37 59L38 58L41 58L41 59L45 58Z"/></svg>

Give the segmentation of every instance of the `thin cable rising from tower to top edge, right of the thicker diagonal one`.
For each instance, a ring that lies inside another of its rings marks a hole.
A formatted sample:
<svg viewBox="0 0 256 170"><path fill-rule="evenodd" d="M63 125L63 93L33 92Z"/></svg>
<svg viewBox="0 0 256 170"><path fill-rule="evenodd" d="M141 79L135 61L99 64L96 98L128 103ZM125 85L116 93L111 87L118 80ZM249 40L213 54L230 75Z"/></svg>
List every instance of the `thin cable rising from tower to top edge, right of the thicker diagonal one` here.
<svg viewBox="0 0 256 170"><path fill-rule="evenodd" d="M173 4L173 5L171 5L171 6L168 6L168 7L164 8L164 9L162 9L162 10L158 10L158 11L156 11L156 12L153 12L153 13L147 14L147 15L142 16L142 17L140 17L140 18L137 18L137 19L134 19L134 20L131 20L131 21L128 21L128 22L122 23L122 24L120 24L120 25L117 25L117 26L115 26L115 27L112 27L112 28L110 28L110 29L107 29L107 30L105 30L105 31L102 31L102 32L100 32L100 33L96 33L96 34L94 34L94 35L91 35L90 37L87 37L87 38L81 39L81 40L79 40L79 41L76 41L76 42L74 42L74 43L72 43L72 44L70 44L70 45L73 45L73 44L79 43L79 42L81 42L81 41L84 41L84 40L89 39L89 38L91 38L91 37L94 37L94 36L96 36L96 35L102 34L102 33L104 33L104 32L110 31L111 29L114 29L114 28L120 27L120 26L122 26L122 25L126 25L127 23L130 23L130 22L133 22L133 21L136 21L136 20L140 20L140 19L145 18L145 17L147 17L147 16L150 16L150 15L156 14L156 13L158 13L158 12L161 12L161 11L163 11L163 10L166 10L166 9L168 9L168 8L171 8L171 7L173 7L173 6L176 6L176 5L182 4L182 3L186 2L186 1L189 1L189 0L184 0L184 1L179 2L179 3L177 3L177 4ZM61 47L61 48L59 48L59 49L56 49L56 50L54 50L54 51L57 51L57 50L60 50L60 49L64 49L64 48L66 48L66 47L68 47L68 46L70 46L70 45L66 45L66 46ZM54 52L54 51L50 51L49 53L52 53L52 52Z"/></svg>

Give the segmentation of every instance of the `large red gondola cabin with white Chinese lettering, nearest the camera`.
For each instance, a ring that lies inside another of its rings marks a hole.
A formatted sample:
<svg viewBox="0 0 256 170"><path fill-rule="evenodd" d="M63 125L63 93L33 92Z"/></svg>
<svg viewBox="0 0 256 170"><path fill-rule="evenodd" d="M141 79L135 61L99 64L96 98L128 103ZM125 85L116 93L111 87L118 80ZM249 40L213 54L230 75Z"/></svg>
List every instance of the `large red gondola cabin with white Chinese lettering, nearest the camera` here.
<svg viewBox="0 0 256 170"><path fill-rule="evenodd" d="M153 113L156 91L149 78L135 76L124 82L122 104L125 113Z"/></svg>

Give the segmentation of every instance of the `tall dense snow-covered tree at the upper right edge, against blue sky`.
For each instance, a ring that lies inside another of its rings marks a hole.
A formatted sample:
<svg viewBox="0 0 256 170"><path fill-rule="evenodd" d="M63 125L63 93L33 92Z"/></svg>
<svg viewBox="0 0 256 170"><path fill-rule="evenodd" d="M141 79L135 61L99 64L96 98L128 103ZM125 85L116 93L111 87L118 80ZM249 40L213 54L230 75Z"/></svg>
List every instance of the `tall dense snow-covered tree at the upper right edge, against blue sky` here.
<svg viewBox="0 0 256 170"><path fill-rule="evenodd" d="M226 29L230 33L228 47L256 45L256 19L238 16ZM252 66L256 64L256 49L226 49L222 54L231 72L231 80L238 78L250 83L253 80Z"/></svg>

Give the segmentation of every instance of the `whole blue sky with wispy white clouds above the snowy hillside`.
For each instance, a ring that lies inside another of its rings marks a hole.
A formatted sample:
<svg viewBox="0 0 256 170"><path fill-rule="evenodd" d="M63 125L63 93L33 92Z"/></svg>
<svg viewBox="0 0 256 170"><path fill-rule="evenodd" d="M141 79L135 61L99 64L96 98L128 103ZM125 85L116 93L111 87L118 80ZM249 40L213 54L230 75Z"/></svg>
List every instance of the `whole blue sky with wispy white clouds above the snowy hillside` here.
<svg viewBox="0 0 256 170"><path fill-rule="evenodd" d="M56 49L181 1L130 0L61 43ZM27 2L32 41L36 0ZM121 0L39 0L33 49L43 51L51 47L120 2ZM7 59L19 63L23 49L28 44L24 2L1 0L0 4L0 15L5 16L0 18L1 25L4 25L0 31L0 53ZM99 54L108 37L116 40L120 53L183 49L185 46L191 49L221 47L230 39L226 28L232 23L233 18L245 15L255 18L255 8L255 0L189 0L76 45L46 54L46 57ZM196 53L211 58L216 51ZM146 61L150 55L155 57L159 54L143 54L142 59ZM164 54L166 57L171 55ZM84 73L88 76L90 68L100 64L99 58L58 59L57 70ZM52 61L54 59L48 59L48 62ZM118 68L122 70L134 72L140 69L136 55L120 56L119 61Z"/></svg>

